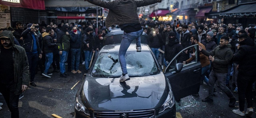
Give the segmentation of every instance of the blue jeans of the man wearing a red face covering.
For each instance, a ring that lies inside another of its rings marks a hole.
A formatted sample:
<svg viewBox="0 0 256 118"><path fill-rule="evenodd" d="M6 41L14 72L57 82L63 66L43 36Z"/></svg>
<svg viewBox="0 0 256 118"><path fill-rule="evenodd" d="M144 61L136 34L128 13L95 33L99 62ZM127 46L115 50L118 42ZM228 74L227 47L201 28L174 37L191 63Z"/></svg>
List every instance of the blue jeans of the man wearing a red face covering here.
<svg viewBox="0 0 256 118"><path fill-rule="evenodd" d="M79 63L80 63L80 49L70 49L71 50L71 70L75 69L76 65L76 70L79 70Z"/></svg>

